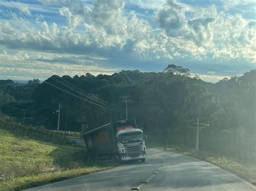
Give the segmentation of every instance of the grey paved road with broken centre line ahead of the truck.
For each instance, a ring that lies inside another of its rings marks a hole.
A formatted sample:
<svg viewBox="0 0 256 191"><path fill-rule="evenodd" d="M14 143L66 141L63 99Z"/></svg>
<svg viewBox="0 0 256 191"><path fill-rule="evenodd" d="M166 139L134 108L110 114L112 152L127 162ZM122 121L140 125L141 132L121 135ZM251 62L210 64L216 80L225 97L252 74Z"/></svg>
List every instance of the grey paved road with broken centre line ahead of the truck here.
<svg viewBox="0 0 256 191"><path fill-rule="evenodd" d="M123 164L30 190L256 190L250 183L208 162L154 148L147 153L144 164Z"/></svg>

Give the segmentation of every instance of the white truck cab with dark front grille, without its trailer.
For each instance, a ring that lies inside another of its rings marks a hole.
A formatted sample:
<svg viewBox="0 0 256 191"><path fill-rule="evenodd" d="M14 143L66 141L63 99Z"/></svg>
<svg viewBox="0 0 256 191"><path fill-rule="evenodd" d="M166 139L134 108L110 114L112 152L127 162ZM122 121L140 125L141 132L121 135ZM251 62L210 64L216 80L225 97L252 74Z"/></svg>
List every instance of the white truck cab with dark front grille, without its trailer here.
<svg viewBox="0 0 256 191"><path fill-rule="evenodd" d="M146 145L143 131L140 129L126 129L117 132L117 160L119 162L128 160L146 159Z"/></svg>

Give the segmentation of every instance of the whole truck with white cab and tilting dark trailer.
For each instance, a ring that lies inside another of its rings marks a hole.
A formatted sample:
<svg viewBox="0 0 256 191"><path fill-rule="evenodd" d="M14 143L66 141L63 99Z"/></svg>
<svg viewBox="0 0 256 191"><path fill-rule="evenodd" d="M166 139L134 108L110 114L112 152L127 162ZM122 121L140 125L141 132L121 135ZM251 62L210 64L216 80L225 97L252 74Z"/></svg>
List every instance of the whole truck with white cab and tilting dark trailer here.
<svg viewBox="0 0 256 191"><path fill-rule="evenodd" d="M112 122L83 134L91 155L112 156L119 162L146 159L143 131L134 118Z"/></svg>

